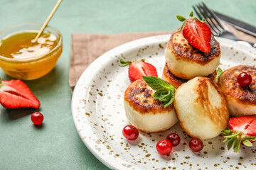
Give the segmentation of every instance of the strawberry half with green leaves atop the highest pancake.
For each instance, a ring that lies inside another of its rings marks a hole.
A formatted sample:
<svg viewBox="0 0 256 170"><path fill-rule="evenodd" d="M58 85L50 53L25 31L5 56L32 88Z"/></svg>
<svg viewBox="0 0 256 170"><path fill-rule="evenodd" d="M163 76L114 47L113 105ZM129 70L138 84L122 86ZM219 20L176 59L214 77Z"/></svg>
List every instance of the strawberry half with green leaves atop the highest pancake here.
<svg viewBox="0 0 256 170"><path fill-rule="evenodd" d="M204 23L204 20L199 21L198 18L193 18L193 11L189 16L189 19L183 16L177 16L178 20L183 22L181 30L184 38L186 38L193 47L201 50L201 52L210 52L210 28Z"/></svg>

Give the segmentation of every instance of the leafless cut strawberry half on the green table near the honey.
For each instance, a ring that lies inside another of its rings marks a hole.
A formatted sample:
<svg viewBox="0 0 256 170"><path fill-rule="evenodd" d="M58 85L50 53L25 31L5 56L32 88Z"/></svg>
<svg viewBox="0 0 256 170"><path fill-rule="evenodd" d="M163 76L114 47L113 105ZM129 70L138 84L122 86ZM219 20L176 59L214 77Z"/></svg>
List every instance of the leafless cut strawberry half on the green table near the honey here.
<svg viewBox="0 0 256 170"><path fill-rule="evenodd" d="M5 108L39 108L40 102L21 80L0 81L0 103Z"/></svg>

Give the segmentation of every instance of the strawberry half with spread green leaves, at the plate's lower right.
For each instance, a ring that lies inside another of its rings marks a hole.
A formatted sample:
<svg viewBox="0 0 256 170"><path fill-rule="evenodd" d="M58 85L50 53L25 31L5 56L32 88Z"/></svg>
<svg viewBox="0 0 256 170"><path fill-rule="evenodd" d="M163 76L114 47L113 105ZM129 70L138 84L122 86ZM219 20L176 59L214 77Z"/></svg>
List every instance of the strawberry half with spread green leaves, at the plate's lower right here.
<svg viewBox="0 0 256 170"><path fill-rule="evenodd" d="M223 142L228 142L228 149L234 146L238 152L241 142L247 147L252 147L256 140L256 115L244 115L230 118L228 121L230 130L221 130L225 136Z"/></svg>

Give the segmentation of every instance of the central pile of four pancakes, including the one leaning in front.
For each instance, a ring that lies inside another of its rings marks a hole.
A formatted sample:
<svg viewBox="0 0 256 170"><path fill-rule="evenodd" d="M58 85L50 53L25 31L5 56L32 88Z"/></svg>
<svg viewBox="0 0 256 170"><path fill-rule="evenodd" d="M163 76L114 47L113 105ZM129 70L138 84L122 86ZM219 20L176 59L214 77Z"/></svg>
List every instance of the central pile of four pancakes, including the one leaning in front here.
<svg viewBox="0 0 256 170"><path fill-rule="evenodd" d="M163 77L176 88L174 103L154 99L154 90L144 80L130 84L124 92L124 109L129 123L144 132L168 130L178 121L191 137L209 139L228 124L228 104L216 85L215 69L220 64L220 45L212 36L210 52L192 47L176 32L165 50Z"/></svg>

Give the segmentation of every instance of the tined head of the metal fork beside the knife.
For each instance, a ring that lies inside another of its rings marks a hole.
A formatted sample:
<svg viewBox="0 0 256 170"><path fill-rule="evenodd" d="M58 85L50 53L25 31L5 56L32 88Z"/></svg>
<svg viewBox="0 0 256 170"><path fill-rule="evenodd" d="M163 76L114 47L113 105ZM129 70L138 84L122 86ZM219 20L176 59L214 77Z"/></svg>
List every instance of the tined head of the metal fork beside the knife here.
<svg viewBox="0 0 256 170"><path fill-rule="evenodd" d="M196 10L196 7L198 8L198 11ZM201 4L192 6L193 10L198 15L198 18L202 20L205 18L206 24L210 27L210 30L212 31L212 34L214 36L219 36L222 38L228 38L230 40L236 40L239 39L233 34L230 33L230 30L227 26L225 26L223 23L221 23L220 19L211 11L206 4L201 2Z"/></svg>

